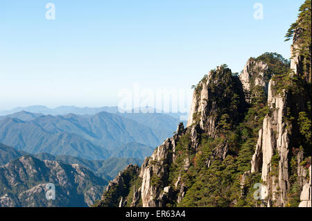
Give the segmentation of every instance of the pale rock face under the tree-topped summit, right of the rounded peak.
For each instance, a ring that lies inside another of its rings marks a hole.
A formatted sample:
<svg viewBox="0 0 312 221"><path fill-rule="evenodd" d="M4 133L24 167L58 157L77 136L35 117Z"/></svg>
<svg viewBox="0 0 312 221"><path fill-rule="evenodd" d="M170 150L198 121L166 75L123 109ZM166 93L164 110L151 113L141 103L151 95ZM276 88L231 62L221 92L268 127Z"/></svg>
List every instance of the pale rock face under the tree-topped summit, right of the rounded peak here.
<svg viewBox="0 0 312 221"><path fill-rule="evenodd" d="M268 64L261 60L257 61L254 58L250 58L239 76L245 94L250 94L254 86L263 87L265 91L268 92L268 82L264 80L264 76L266 76L267 72Z"/></svg>

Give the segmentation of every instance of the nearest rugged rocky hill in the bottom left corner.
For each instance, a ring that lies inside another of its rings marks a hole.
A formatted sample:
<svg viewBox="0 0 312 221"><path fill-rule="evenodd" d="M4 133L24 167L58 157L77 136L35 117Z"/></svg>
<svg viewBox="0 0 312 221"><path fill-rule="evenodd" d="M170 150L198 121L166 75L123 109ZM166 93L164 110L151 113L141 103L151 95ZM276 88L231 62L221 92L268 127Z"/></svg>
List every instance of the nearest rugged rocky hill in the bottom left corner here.
<svg viewBox="0 0 312 221"><path fill-rule="evenodd" d="M0 167L0 206L90 206L107 182L78 165L20 157ZM47 200L46 184L55 185Z"/></svg>

